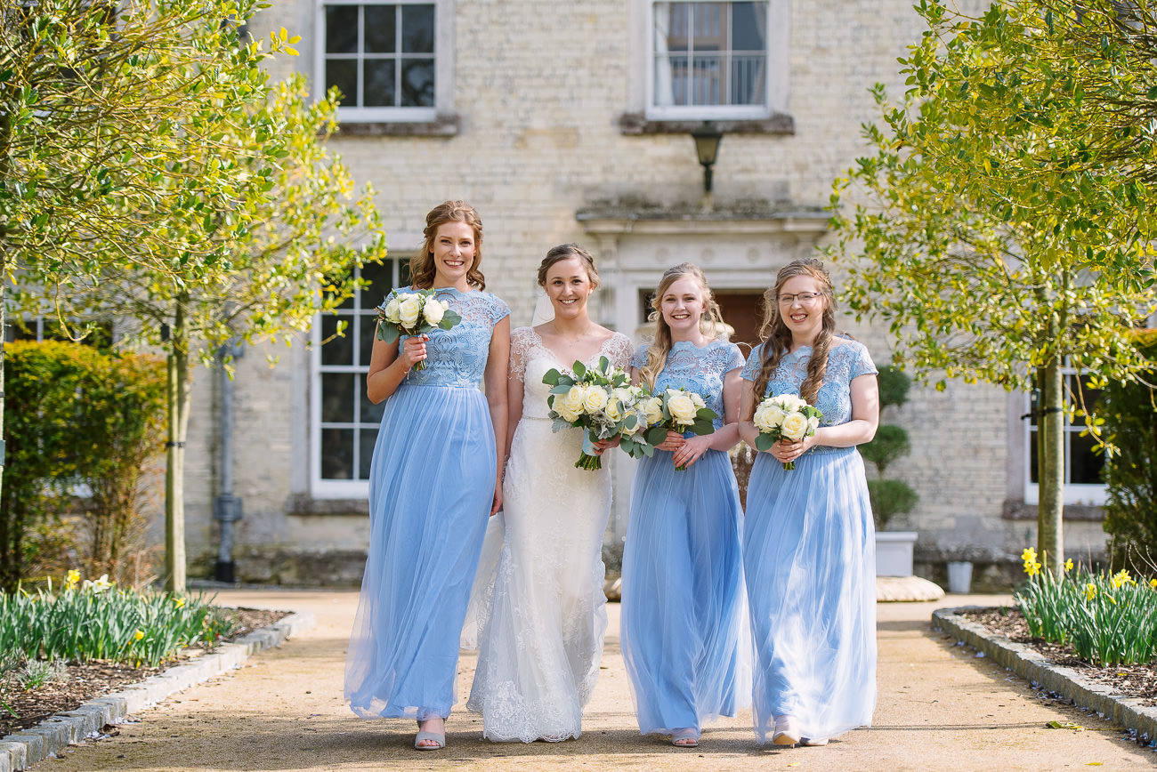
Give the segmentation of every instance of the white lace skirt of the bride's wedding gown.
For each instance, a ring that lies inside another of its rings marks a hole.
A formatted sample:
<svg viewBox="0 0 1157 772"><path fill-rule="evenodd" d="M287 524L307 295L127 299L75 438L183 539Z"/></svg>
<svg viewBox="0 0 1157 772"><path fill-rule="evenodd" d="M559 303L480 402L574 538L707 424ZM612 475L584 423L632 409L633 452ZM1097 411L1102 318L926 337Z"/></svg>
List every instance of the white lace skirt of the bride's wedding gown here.
<svg viewBox="0 0 1157 772"><path fill-rule="evenodd" d="M487 530L471 600L478 618L467 616L463 636L469 643L471 628L481 629L466 707L482 714L487 740L582 734L606 630L603 532L611 507L610 469L574 466L582 437L529 417L515 431L504 512Z"/></svg>

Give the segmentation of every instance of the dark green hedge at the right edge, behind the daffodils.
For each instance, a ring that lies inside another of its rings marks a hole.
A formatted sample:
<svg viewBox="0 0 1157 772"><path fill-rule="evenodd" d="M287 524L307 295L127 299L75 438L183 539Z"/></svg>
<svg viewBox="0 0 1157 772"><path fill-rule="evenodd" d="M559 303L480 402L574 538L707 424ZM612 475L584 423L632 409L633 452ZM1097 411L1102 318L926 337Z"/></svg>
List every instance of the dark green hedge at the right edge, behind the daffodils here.
<svg viewBox="0 0 1157 772"><path fill-rule="evenodd" d="M1140 349L1157 359L1157 329L1138 333ZM1157 372L1144 380L1157 383ZM1113 569L1152 573L1157 566L1157 389L1144 383L1110 384L1100 415L1110 443L1120 453L1101 473L1108 488L1105 532Z"/></svg>

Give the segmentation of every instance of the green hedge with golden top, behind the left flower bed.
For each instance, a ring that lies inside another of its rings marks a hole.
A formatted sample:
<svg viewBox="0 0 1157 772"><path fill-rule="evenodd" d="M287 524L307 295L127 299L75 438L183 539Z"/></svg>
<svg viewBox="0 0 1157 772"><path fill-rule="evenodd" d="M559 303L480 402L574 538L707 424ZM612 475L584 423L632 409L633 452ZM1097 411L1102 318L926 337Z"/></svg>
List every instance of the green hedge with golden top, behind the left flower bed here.
<svg viewBox="0 0 1157 772"><path fill-rule="evenodd" d="M139 520L141 469L163 450L164 396L157 357L78 343L5 347L0 588L13 592L37 566L29 535L78 503L87 528L75 552L90 572L116 572Z"/></svg>

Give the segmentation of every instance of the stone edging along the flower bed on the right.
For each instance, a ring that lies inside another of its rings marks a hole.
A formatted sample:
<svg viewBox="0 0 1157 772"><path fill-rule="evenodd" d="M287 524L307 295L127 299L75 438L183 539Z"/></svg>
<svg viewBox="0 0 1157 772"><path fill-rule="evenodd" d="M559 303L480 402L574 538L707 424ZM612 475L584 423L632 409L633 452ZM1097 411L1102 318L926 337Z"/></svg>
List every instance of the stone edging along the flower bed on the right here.
<svg viewBox="0 0 1157 772"><path fill-rule="evenodd" d="M971 622L960 611L980 610L979 606L933 611L933 628L963 640L1022 678L1061 695L1081 707L1097 711L1106 719L1133 729L1145 740L1157 738L1157 707L1142 705L1136 697L1113 696L1108 686L1085 678L1077 670L1054 665L1047 658L1007 636L990 632Z"/></svg>

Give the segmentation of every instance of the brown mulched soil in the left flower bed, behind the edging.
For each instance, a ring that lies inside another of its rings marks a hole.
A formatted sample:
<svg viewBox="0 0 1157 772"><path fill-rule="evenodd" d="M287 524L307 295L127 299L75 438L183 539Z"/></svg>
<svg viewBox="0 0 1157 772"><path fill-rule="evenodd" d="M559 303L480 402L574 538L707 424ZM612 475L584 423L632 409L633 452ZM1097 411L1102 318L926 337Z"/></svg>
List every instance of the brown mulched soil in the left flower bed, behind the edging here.
<svg viewBox="0 0 1157 772"><path fill-rule="evenodd" d="M273 624L288 611L265 611L259 609L231 610L236 626L228 637L218 641L229 643L246 633ZM76 710L82 703L96 697L111 695L123 686L139 683L152 675L164 671L165 668L180 665L208 648L193 648L183 658L157 667L134 668L115 662L83 662L65 666L65 676L52 681L32 691L20 691L14 684L0 682L0 737L20 729L36 726L44 719L65 711ZM10 710L6 710L10 708Z"/></svg>

